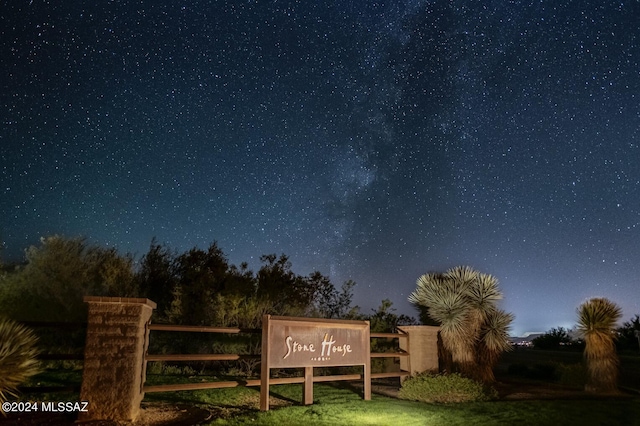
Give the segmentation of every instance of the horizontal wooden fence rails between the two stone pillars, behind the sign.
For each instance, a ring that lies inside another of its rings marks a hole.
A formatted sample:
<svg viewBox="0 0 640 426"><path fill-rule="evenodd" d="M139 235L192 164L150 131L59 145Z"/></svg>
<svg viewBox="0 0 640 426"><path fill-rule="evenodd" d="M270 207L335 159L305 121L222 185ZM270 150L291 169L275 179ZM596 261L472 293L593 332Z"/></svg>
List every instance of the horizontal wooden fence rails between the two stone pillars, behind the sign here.
<svg viewBox="0 0 640 426"><path fill-rule="evenodd" d="M199 332L199 333L220 333L220 334L261 334L262 330L259 329L243 329L237 327L206 327L206 326L188 326L188 325L169 325L169 324L150 324L148 326L149 331L171 331L171 332ZM371 333L372 339L406 339L409 347L408 340L409 334L404 332L398 333ZM410 354L402 349L397 349L396 352L377 352L371 353L371 358L402 358L405 357L410 362ZM259 360L259 354L146 354L146 362L180 362L180 361L239 361L243 359ZM409 365L409 364L407 364ZM383 372L372 373L372 379L390 378L390 377L405 377L410 375L411 369L406 371L396 372ZM314 376L314 382L333 382L340 380L362 380L362 374L341 374L330 376ZM270 384L293 384L304 383L305 378L300 377L283 377L272 378L269 380ZM143 391L149 392L169 392L169 391L184 391L184 390L199 390L199 389L220 389L230 388L238 386L260 386L260 379L248 379L248 380L233 380L233 381L217 381L217 382L199 382L199 383L182 383L182 384L165 384L144 386Z"/></svg>

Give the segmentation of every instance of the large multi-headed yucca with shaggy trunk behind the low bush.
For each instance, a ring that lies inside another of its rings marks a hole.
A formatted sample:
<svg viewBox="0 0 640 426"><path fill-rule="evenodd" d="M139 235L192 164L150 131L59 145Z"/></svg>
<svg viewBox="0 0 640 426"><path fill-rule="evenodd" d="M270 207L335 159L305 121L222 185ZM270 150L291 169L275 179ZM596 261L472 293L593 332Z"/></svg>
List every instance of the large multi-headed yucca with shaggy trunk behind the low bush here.
<svg viewBox="0 0 640 426"><path fill-rule="evenodd" d="M484 382L495 380L499 355L511 349L513 315L498 309L501 299L495 277L466 266L421 276L409 296L440 324L442 343L460 371Z"/></svg>

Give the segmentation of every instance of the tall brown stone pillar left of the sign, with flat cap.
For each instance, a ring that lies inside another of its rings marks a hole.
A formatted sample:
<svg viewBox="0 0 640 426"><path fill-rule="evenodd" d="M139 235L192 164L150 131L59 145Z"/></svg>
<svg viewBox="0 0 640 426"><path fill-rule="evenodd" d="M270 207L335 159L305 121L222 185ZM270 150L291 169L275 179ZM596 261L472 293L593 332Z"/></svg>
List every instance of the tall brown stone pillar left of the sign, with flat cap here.
<svg viewBox="0 0 640 426"><path fill-rule="evenodd" d="M87 296L87 340L80 399L88 412L79 421L133 421L144 397L148 324L156 304L149 299Z"/></svg>

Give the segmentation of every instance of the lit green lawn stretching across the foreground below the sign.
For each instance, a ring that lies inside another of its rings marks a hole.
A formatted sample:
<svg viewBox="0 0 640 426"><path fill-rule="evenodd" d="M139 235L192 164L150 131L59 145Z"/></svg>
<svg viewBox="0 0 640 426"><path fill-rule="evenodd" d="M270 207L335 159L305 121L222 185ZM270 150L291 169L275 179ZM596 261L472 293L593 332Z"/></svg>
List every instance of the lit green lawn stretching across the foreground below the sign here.
<svg viewBox="0 0 640 426"><path fill-rule="evenodd" d="M271 391L280 406L263 413L257 409L258 395L257 388L233 388L154 394L145 400L226 407L216 411L222 418L211 425L640 425L638 397L432 405L380 395L363 401L351 388L316 384L314 405L300 406L301 386L282 385Z"/></svg>

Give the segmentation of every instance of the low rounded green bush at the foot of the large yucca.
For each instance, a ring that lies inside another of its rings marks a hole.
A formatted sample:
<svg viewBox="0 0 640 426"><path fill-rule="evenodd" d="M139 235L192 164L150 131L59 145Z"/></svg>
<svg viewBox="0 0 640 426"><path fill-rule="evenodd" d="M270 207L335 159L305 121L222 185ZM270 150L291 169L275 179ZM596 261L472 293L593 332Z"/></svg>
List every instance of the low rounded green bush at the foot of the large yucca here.
<svg viewBox="0 0 640 426"><path fill-rule="evenodd" d="M497 392L457 373L421 373L405 380L398 396L411 401L448 404L488 401L497 398Z"/></svg>

